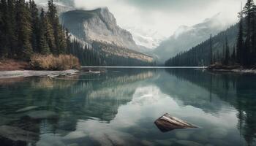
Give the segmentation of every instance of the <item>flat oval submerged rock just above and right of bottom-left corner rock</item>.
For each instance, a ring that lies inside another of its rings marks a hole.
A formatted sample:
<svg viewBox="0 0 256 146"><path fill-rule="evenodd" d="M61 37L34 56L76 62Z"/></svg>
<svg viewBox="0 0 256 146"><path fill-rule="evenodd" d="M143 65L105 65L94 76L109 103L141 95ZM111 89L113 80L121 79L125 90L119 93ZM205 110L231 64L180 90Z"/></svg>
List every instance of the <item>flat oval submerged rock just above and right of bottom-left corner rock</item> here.
<svg viewBox="0 0 256 146"><path fill-rule="evenodd" d="M37 110L34 112L29 112L28 116L32 119L54 119L59 117L56 112L48 110Z"/></svg>

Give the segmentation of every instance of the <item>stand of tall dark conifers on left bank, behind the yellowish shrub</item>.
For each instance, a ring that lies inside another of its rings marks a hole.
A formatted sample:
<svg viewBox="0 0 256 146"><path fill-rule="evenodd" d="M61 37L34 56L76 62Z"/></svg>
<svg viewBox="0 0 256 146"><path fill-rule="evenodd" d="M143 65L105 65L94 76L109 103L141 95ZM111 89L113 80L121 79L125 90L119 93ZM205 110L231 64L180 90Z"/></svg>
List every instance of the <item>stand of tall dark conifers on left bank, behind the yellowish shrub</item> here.
<svg viewBox="0 0 256 146"><path fill-rule="evenodd" d="M67 53L67 41L53 0L47 12L34 0L0 1L0 58L29 61L34 53Z"/></svg>

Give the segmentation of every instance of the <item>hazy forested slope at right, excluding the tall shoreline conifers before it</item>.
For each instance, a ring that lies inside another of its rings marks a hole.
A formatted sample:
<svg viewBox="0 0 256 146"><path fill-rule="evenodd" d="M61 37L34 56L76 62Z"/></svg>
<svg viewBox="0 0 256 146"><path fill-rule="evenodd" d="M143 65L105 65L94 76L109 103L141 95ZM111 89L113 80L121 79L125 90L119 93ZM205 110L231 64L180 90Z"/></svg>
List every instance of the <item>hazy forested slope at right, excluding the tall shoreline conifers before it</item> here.
<svg viewBox="0 0 256 146"><path fill-rule="evenodd" d="M236 47L236 39L238 36L238 23L225 31L221 31L216 36L212 37L212 53L214 60L221 60L225 54L225 38L227 37L227 45L230 49L230 54L233 53L233 48ZM210 64L210 39L192 47L190 50L176 55L175 58L171 58L166 61L166 66L206 66Z"/></svg>

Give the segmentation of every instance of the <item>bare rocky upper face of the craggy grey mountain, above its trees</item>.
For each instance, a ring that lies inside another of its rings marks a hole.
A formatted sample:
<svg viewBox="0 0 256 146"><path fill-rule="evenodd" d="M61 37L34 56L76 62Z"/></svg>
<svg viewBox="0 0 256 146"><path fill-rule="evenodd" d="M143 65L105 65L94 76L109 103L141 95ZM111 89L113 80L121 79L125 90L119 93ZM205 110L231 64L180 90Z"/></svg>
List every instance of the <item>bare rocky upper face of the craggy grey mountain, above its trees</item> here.
<svg viewBox="0 0 256 146"><path fill-rule="evenodd" d="M72 10L60 16L61 23L68 30L85 42L106 42L119 47L138 50L132 34L120 28L108 8L90 11Z"/></svg>

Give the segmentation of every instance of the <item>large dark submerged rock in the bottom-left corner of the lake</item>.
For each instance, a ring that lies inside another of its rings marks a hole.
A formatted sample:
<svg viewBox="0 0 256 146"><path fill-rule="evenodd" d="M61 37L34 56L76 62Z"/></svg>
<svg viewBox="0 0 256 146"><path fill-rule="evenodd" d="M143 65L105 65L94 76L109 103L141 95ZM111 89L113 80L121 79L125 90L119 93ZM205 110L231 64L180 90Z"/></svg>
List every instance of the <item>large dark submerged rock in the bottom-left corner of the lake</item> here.
<svg viewBox="0 0 256 146"><path fill-rule="evenodd" d="M38 135L13 126L0 126L0 136L12 141L35 142Z"/></svg>

